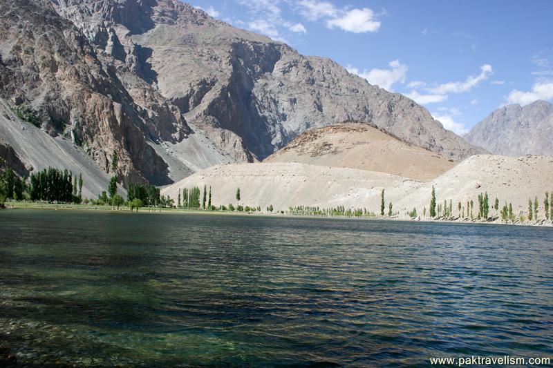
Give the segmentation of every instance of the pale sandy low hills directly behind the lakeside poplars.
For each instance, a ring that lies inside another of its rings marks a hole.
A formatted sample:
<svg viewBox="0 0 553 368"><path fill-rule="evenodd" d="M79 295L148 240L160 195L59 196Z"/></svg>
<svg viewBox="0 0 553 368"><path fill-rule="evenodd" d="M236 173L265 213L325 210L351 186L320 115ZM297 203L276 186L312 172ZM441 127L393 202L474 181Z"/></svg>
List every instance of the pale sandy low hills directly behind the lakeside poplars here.
<svg viewBox="0 0 553 368"><path fill-rule="evenodd" d="M525 213L528 198L538 197L540 218L544 218L543 197L551 191L542 177L553 177L553 158L547 156L506 157L474 155L431 182L418 182L397 175L353 168L333 168L297 162L231 164L207 168L162 190L174 198L182 188L204 185L212 187L212 203L236 205L236 188L241 189L241 203L261 206L272 204L276 210L290 206L345 206L346 209L366 208L379 213L380 195L385 190L386 206L392 202L394 211L405 216L416 208L422 214L429 209L432 186L436 199L457 204L473 200L478 213L478 194L487 192L490 207L497 197L500 206L512 203L514 213ZM387 207L386 207L387 209ZM490 211L494 215L494 211Z"/></svg>

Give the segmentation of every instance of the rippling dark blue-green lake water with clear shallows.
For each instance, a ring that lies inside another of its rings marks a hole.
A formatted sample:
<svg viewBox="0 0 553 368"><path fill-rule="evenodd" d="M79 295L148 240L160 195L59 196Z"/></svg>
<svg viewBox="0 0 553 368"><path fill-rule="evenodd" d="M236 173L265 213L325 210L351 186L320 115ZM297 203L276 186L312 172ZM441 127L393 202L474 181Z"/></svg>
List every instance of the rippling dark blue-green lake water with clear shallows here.
<svg viewBox="0 0 553 368"><path fill-rule="evenodd" d="M36 365L553 356L553 229L0 211L0 345Z"/></svg>

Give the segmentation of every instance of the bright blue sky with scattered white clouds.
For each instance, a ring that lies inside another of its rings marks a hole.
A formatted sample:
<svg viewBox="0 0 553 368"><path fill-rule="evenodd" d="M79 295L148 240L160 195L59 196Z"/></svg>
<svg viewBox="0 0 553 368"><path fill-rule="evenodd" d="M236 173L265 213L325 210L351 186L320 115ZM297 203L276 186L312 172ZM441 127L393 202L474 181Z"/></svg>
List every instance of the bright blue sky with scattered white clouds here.
<svg viewBox="0 0 553 368"><path fill-rule="evenodd" d="M553 1L197 0L213 17L330 57L466 133L505 104L553 100Z"/></svg>

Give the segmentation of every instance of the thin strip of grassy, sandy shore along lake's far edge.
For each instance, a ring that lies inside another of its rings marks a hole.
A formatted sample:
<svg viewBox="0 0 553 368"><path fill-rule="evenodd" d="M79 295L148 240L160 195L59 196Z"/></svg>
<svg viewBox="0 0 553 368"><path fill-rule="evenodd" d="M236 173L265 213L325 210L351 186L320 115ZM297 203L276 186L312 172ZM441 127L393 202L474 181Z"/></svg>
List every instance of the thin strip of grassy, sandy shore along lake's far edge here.
<svg viewBox="0 0 553 368"><path fill-rule="evenodd" d="M540 220L541 223L534 224L521 224L520 222L505 223L498 222L497 217L491 221L478 221L470 219L411 219L411 218L398 218L398 217L347 217L347 216L317 216L317 215L292 215L290 213L274 212L245 212L245 211L210 211L203 209L182 209L182 208L150 208L142 207L140 211L130 211L125 207L120 209L113 209L111 206L97 206L91 204L53 204L53 203L37 203L37 202L6 202L6 208L4 210L17 210L17 209L35 209L44 211L100 211L104 213L159 213L159 214L178 214L178 215L223 215L223 216L258 216L258 217L280 217L280 218L312 218L312 219L326 219L326 220L378 220L378 221L401 221L401 222L440 222L449 224L473 224L473 225L503 225L503 226L532 226L532 227L553 227L552 220ZM1 210L0 210L1 211ZM492 217L493 218L493 217Z"/></svg>

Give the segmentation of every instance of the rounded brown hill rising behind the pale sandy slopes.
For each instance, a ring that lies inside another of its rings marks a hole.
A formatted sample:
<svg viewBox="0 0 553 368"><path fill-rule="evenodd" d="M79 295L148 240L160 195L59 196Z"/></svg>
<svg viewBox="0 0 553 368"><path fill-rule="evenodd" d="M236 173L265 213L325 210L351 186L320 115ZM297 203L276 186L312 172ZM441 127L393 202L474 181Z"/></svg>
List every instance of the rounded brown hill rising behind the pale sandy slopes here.
<svg viewBox="0 0 553 368"><path fill-rule="evenodd" d="M263 162L359 168L414 180L432 180L455 166L451 159L355 122L307 130Z"/></svg>

